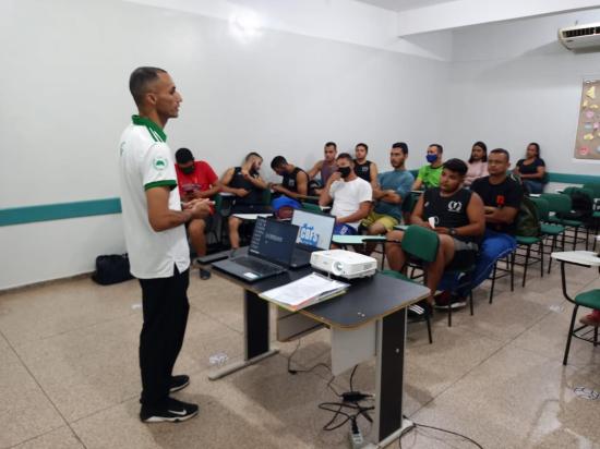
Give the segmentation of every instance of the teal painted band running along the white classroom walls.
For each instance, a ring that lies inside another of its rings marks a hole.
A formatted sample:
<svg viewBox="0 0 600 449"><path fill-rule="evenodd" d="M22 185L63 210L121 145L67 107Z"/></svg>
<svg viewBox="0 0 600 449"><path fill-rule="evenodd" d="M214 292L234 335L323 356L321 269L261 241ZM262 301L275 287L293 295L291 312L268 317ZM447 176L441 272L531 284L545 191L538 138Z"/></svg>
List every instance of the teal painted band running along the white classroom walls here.
<svg viewBox="0 0 600 449"><path fill-rule="evenodd" d="M410 170L417 175L418 170ZM600 184L600 175L549 173L550 182L565 184ZM119 198L91 199L85 202L45 204L40 206L0 209L0 226L34 223L38 221L63 220L67 218L93 217L121 213Z"/></svg>

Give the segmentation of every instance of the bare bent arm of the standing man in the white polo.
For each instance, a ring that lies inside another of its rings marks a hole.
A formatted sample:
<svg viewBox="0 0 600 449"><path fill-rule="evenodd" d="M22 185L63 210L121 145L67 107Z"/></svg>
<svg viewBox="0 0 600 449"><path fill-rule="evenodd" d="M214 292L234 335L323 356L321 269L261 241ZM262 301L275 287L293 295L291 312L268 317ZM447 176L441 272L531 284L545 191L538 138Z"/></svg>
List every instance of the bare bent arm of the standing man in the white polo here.
<svg viewBox="0 0 600 449"><path fill-rule="evenodd" d="M185 210L169 209L169 195L168 186L156 186L146 191L148 221L156 232L177 228L192 218L206 217L211 211L211 202L207 199L197 199Z"/></svg>

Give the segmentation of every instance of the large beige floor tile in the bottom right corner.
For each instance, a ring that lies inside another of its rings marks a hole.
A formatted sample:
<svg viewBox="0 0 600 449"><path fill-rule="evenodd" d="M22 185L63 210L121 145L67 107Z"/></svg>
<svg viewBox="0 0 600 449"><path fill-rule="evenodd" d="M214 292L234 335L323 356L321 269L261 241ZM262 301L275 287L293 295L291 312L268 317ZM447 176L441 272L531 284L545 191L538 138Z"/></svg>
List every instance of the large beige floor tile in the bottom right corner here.
<svg viewBox="0 0 600 449"><path fill-rule="evenodd" d="M598 402L575 396L573 388L581 380L598 388L572 367L505 348L410 417L459 432L485 448L545 448L574 441L595 447L600 445L600 428L593 424Z"/></svg>

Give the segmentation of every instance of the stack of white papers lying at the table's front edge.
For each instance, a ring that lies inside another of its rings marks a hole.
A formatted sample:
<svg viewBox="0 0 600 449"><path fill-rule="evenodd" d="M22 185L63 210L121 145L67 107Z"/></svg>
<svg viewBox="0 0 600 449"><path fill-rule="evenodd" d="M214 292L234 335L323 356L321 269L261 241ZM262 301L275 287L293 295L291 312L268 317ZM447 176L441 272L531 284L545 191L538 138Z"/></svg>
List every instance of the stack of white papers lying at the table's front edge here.
<svg viewBox="0 0 600 449"><path fill-rule="evenodd" d="M313 272L293 282L267 290L259 296L273 301L289 311L299 311L300 308L343 294L348 287L350 284Z"/></svg>

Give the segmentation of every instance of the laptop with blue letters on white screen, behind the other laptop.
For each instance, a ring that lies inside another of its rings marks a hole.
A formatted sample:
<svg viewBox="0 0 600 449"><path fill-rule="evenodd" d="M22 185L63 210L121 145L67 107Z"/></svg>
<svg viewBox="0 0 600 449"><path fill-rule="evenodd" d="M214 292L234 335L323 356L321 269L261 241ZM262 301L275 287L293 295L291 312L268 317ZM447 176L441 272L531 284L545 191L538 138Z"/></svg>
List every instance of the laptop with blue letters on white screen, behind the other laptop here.
<svg viewBox="0 0 600 449"><path fill-rule="evenodd" d="M303 268L311 264L313 251L328 250L334 233L335 217L333 215L310 213L295 209L291 223L300 230L296 239L296 247L291 257L292 268Z"/></svg>

